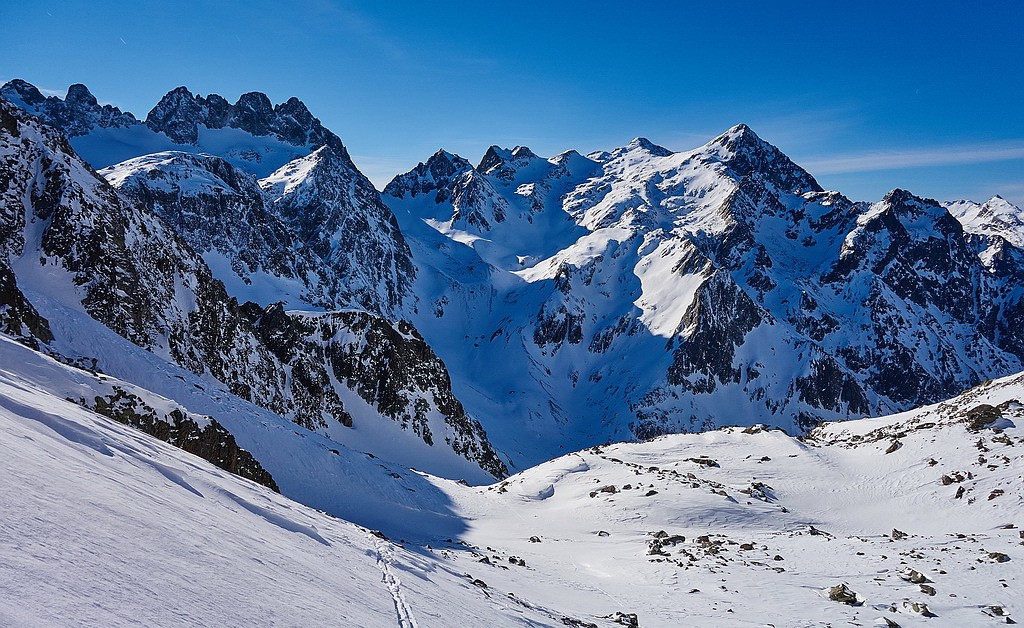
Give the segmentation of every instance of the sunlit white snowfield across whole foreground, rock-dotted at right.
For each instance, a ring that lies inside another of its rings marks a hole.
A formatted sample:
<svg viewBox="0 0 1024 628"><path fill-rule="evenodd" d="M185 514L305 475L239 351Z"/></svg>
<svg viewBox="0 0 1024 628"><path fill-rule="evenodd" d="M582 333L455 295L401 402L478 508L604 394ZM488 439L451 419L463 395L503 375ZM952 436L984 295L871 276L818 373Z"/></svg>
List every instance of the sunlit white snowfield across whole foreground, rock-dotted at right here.
<svg viewBox="0 0 1024 628"><path fill-rule="evenodd" d="M418 541L402 548L62 401L73 370L30 353L0 361L0 624L606 627L635 613L645 627L992 626L1024 616L1024 374L804 441L758 428L663 436L490 487L375 470L340 452L339 479L359 476L374 508L395 504L394 536ZM403 501L401 487L422 501ZM441 502L461 526L417 530L417 504ZM361 514L358 500L333 511ZM859 605L829 600L843 584Z"/></svg>

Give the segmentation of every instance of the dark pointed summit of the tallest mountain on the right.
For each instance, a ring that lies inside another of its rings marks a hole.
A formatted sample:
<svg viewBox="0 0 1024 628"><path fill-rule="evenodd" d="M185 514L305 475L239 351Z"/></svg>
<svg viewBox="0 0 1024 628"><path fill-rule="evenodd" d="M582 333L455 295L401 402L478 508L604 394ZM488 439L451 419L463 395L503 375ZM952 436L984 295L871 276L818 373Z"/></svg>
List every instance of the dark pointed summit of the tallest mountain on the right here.
<svg viewBox="0 0 1024 628"><path fill-rule="evenodd" d="M781 192L824 192L809 172L745 124L730 128L693 155L696 159L722 163L738 177L758 173Z"/></svg>

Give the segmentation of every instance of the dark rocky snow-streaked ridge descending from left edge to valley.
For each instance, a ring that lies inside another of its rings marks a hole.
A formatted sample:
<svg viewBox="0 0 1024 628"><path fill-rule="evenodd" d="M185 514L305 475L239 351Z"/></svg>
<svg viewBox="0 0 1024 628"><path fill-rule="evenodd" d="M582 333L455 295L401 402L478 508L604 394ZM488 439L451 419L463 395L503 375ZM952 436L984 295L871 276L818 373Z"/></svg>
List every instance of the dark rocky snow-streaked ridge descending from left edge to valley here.
<svg viewBox="0 0 1024 628"><path fill-rule="evenodd" d="M36 346L45 344L62 360L127 381L147 381L156 367L140 368L130 359L133 347L104 337L105 326L155 359L179 365L221 384L225 393L338 443L474 482L507 472L483 428L452 397L443 363L408 323L395 324L368 309L310 325L309 317L285 312L273 303L240 305L203 257L158 215L168 214L177 226L190 225L194 231L178 231L194 242L204 229L214 231L211 223L234 220L238 228L225 229L224 238L237 244L254 233L242 219L275 215L266 205L247 206L251 199L224 194L229 183L242 193L262 194L251 178L232 174L230 166L215 158L178 155L170 159L168 172L184 172L184 177L165 177L155 170L145 175L151 183L145 189L166 196L133 197L92 171L59 131L5 100L0 100L0 122L5 183L0 212L5 306L0 323L9 333ZM358 181L349 180L348 190L355 189ZM217 203L202 209L177 203L182 190L184 197L206 195L222 202L223 220L205 213L220 207ZM338 198L322 198L334 205L309 201L310 206L337 208L340 221L349 219ZM374 209L390 215L378 200L358 205L354 220ZM234 211L249 214L240 219ZM263 243L274 236L256 232ZM353 246L366 249L372 246L368 240ZM330 250L334 277L341 277L344 267L338 260L348 249L343 242L335 244ZM395 247L400 240L388 244ZM247 252L245 246L233 250ZM387 273L380 262L375 260L370 274ZM350 275L368 273L357 268ZM357 286L353 281L343 288Z"/></svg>

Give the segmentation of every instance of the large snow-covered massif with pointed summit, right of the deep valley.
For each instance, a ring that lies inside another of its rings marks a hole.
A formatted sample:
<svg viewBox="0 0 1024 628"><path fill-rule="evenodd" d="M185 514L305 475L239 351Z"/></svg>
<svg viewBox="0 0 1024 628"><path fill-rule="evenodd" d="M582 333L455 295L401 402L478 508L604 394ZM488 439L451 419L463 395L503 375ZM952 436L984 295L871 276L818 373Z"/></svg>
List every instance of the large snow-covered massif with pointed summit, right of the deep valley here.
<svg viewBox="0 0 1024 628"><path fill-rule="evenodd" d="M438 152L384 192L432 303L413 321L471 412L517 417L488 425L513 458L732 423L801 431L1024 357L1019 261L993 268L934 201L824 192L744 125L683 153L492 148L473 168Z"/></svg>

